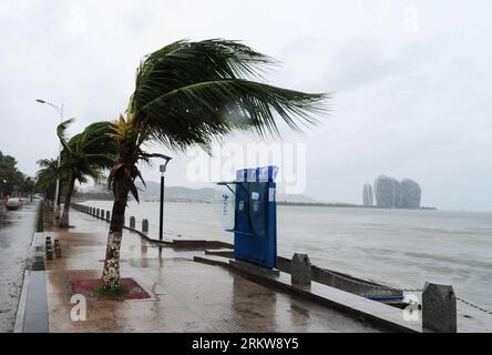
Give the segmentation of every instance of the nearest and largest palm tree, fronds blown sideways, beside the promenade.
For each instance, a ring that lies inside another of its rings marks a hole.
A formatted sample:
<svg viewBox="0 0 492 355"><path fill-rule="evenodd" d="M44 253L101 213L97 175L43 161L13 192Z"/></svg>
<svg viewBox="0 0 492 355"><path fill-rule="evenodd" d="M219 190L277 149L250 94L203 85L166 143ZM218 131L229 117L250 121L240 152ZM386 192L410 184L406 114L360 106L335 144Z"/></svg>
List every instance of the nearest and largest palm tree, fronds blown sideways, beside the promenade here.
<svg viewBox="0 0 492 355"><path fill-rule="evenodd" d="M148 55L136 72L135 91L120 115L113 138L120 144L119 163L109 175L114 203L102 274L104 290L120 286L120 246L129 192L139 201L134 184L142 178L139 161L160 154L143 150L162 143L171 150L201 146L236 130L262 136L278 134L275 113L291 129L316 122L327 98L262 83L269 57L236 41L177 41Z"/></svg>

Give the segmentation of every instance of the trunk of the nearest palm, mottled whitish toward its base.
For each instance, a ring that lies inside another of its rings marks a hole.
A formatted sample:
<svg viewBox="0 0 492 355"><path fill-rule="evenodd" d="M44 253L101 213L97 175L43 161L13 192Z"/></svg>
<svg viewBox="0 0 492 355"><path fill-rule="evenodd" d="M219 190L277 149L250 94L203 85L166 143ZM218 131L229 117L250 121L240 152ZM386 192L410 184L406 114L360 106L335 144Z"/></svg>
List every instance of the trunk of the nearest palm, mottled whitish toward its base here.
<svg viewBox="0 0 492 355"><path fill-rule="evenodd" d="M101 277L104 290L112 290L120 286L120 247L123 236L129 191L130 189L124 179L115 179L113 212L111 214L111 225L107 234L106 258Z"/></svg>

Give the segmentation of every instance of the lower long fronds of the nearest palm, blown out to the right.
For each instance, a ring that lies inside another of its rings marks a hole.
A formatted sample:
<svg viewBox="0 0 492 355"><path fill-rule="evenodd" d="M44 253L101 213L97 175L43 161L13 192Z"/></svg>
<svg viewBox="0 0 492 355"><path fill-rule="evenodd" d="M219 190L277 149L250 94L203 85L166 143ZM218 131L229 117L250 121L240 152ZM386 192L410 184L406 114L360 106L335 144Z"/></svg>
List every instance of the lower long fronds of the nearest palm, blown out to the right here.
<svg viewBox="0 0 492 355"><path fill-rule="evenodd" d="M209 138L218 139L233 130L254 131L262 136L276 135L275 113L290 129L301 131L317 122L314 113L322 113L324 109L314 103L325 99L324 94L305 94L242 79L226 79L173 90L142 111L148 116L147 124L156 136L165 138L172 148L185 148L194 143L208 145ZM165 119L162 119L163 112L166 112Z"/></svg>

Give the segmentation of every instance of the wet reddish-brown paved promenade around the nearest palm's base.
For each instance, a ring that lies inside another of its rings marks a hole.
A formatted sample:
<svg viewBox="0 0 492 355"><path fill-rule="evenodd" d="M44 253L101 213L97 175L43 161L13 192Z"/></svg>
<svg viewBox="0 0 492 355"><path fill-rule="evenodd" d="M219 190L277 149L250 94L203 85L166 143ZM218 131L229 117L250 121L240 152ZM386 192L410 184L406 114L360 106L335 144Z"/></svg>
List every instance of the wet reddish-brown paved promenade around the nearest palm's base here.
<svg viewBox="0 0 492 355"><path fill-rule="evenodd" d="M47 262L50 332L378 332L370 324L297 296L273 291L219 266L193 262L197 251L158 246L124 231L122 277L148 300L86 300L86 320L73 322L70 282L101 276L109 224L73 211L59 239L63 256Z"/></svg>

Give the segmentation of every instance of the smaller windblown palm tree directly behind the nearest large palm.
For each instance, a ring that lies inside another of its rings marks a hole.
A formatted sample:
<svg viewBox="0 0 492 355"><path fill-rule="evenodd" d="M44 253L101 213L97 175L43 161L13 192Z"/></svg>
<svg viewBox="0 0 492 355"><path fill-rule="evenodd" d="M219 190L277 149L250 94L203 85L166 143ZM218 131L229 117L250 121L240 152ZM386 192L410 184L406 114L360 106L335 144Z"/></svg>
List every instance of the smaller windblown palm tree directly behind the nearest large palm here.
<svg viewBox="0 0 492 355"><path fill-rule="evenodd" d="M105 121L92 123L82 133L68 140L65 131L72 122L73 119L64 121L57 129L63 145L61 166L70 172L60 227L70 226L70 203L75 181L86 182L88 176L99 181L103 178L102 171L111 169L117 161L117 144L110 138L110 133L114 132L114 123Z"/></svg>

